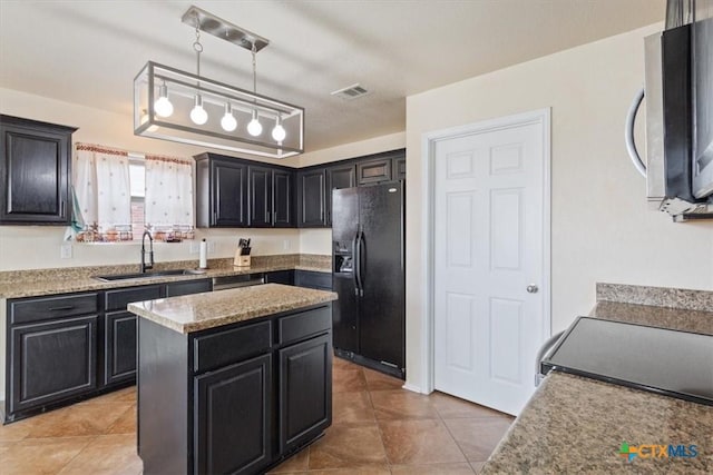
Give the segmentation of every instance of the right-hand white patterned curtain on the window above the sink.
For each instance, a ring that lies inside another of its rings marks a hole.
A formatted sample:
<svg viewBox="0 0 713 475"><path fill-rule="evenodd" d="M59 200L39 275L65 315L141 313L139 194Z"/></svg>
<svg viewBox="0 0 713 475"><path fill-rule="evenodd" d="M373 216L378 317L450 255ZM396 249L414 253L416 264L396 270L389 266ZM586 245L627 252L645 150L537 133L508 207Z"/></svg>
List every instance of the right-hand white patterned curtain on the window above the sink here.
<svg viewBox="0 0 713 475"><path fill-rule="evenodd" d="M147 155L144 206L155 239L193 239L193 162Z"/></svg>

